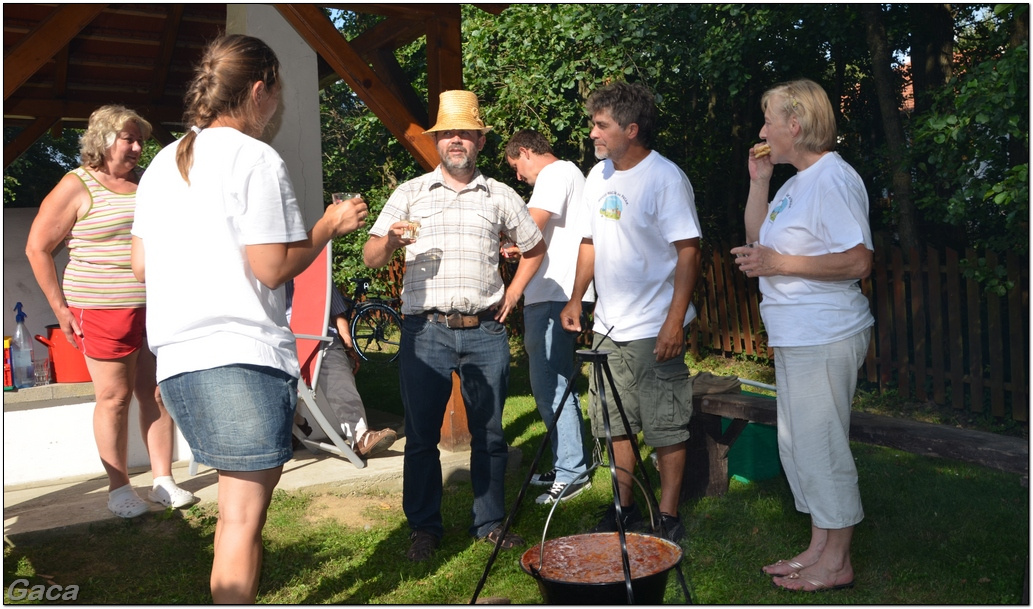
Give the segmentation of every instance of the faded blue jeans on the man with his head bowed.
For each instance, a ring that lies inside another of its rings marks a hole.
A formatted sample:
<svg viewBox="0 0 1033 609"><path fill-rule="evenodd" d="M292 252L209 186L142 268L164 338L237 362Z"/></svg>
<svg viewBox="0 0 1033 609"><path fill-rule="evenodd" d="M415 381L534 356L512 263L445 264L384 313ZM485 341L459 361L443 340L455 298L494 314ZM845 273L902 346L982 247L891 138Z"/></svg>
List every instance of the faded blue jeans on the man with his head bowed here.
<svg viewBox="0 0 1033 609"><path fill-rule="evenodd" d="M563 329L560 312L566 302L535 302L524 307L524 349L531 372L531 392L546 427L553 424L567 380L574 374L577 334ZM569 484L588 469L588 451L581 403L571 387L552 435L556 481Z"/></svg>

